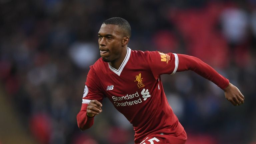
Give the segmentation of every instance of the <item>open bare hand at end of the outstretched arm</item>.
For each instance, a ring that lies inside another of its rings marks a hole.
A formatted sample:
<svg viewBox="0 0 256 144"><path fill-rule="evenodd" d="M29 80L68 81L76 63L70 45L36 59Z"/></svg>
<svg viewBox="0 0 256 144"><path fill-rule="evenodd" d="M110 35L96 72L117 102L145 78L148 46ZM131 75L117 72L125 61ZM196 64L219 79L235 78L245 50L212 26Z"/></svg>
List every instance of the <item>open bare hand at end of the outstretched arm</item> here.
<svg viewBox="0 0 256 144"><path fill-rule="evenodd" d="M244 96L239 91L239 89L229 83L229 85L224 89L225 98L230 101L234 106L241 105L244 103Z"/></svg>

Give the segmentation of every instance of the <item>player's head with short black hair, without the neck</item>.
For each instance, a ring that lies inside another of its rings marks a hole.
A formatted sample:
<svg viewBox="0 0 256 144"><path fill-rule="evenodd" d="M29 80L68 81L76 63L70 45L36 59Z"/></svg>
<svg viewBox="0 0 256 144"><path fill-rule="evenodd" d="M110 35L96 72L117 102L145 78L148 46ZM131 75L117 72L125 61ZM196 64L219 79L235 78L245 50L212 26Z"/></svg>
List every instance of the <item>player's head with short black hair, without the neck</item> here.
<svg viewBox="0 0 256 144"><path fill-rule="evenodd" d="M123 18L114 17L103 22L98 32L100 55L105 62L121 61L126 55L131 27Z"/></svg>

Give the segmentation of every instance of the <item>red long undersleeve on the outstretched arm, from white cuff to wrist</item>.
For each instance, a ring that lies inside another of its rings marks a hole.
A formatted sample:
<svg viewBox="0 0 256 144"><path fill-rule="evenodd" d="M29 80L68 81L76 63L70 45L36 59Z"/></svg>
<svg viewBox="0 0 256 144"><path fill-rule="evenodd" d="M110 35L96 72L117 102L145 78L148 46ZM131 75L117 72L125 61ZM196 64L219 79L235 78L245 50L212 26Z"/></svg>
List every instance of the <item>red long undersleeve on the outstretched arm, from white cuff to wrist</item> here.
<svg viewBox="0 0 256 144"><path fill-rule="evenodd" d="M193 56L183 55L183 54L178 54L178 58L179 58L179 65L178 65L177 72L192 70L197 74L199 74L200 76L212 81L221 89L225 89L228 86L229 84L228 79L220 75L211 66L204 63L200 59Z"/></svg>

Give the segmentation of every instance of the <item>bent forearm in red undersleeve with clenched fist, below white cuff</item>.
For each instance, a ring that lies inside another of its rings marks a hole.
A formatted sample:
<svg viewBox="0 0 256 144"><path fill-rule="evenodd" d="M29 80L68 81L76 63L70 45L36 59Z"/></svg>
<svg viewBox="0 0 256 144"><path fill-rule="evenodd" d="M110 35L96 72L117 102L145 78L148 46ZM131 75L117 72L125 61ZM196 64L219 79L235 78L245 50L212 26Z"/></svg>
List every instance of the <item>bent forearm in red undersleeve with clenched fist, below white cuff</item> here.
<svg viewBox="0 0 256 144"><path fill-rule="evenodd" d="M93 125L94 116L102 112L102 104L97 100L91 100L88 104L82 104L77 114L77 125L81 130L90 128Z"/></svg>

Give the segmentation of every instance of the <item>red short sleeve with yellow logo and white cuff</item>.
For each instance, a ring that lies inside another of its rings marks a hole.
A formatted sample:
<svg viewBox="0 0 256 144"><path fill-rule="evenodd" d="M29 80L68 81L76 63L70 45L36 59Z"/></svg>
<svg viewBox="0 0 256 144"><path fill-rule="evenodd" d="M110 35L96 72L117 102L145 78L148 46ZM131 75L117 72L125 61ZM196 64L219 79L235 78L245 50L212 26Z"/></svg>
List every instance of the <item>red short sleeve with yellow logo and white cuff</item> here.
<svg viewBox="0 0 256 144"><path fill-rule="evenodd" d="M148 51L147 62L155 79L157 79L162 74L175 74L179 58L175 53L165 54L158 51Z"/></svg>

